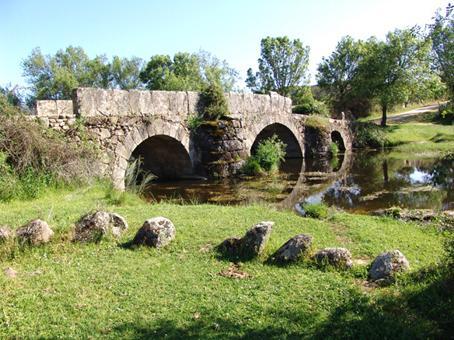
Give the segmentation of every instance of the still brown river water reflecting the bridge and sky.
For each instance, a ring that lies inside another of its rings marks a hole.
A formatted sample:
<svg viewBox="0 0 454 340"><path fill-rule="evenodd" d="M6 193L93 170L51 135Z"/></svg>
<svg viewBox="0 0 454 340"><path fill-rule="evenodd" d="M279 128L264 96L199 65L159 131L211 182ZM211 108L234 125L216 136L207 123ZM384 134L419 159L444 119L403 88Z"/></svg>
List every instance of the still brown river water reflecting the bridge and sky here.
<svg viewBox="0 0 454 340"><path fill-rule="evenodd" d="M335 159L287 160L272 177L155 182L148 195L157 201L268 202L283 209L323 202L362 213L392 206L448 210L454 209L454 164L452 158L363 151Z"/></svg>

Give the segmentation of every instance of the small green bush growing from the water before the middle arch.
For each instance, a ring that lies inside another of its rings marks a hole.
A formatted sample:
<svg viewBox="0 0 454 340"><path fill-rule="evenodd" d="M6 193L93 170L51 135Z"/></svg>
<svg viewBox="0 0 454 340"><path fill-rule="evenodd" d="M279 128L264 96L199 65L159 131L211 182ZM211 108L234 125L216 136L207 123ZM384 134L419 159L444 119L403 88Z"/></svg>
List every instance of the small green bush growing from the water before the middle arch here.
<svg viewBox="0 0 454 340"><path fill-rule="evenodd" d="M285 147L286 145L276 135L261 141L256 154L244 163L243 173L258 175L278 171L281 162L285 160Z"/></svg>

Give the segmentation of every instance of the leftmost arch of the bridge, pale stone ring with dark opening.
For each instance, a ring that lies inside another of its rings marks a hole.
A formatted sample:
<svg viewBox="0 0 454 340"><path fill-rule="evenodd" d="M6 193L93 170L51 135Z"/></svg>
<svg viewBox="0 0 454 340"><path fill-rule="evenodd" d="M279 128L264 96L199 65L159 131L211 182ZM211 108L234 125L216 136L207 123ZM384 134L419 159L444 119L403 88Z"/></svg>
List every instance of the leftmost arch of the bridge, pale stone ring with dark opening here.
<svg viewBox="0 0 454 340"><path fill-rule="evenodd" d="M131 157L143 158L144 170L158 177L176 178L192 174L189 131L183 124L164 119L144 121L125 134L116 144L112 180L118 189L125 188L125 173ZM158 162L152 162L158 159ZM154 171L154 172L153 172Z"/></svg>

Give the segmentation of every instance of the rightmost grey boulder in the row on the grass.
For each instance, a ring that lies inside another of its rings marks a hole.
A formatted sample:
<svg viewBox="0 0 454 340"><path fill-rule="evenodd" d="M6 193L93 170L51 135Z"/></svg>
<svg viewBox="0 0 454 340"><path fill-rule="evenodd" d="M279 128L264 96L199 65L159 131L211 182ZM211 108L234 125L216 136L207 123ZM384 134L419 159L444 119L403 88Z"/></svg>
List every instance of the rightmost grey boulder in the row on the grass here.
<svg viewBox="0 0 454 340"><path fill-rule="evenodd" d="M378 255L369 269L369 278L372 281L388 280L397 272L410 268L410 263L399 250L392 250Z"/></svg>

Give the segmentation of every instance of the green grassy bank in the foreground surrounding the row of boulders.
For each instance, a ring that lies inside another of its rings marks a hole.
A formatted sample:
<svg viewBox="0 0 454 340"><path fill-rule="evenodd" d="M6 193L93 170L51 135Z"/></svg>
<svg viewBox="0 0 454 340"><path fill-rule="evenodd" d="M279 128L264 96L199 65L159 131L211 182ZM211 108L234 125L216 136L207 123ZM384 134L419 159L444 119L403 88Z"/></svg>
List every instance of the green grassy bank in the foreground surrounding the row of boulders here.
<svg viewBox="0 0 454 340"><path fill-rule="evenodd" d="M34 249L0 246L0 338L427 338L452 335L453 292L436 265L443 235L431 226L387 218L330 213L320 221L267 206L149 204L128 196L115 203L101 185L50 192L28 202L0 204L0 224L13 228L43 218L56 232ZM129 222L120 240L70 242L74 222L92 209ZM176 240L162 250L130 250L143 221L170 218ZM274 221L263 258L241 264L249 277L220 276L230 263L213 250L253 224ZM288 238L308 233L315 248L347 247L349 272L307 263L264 264ZM400 249L411 272L386 288L366 283L367 264ZM430 269L432 268L432 269Z"/></svg>

